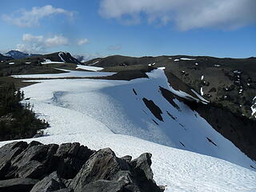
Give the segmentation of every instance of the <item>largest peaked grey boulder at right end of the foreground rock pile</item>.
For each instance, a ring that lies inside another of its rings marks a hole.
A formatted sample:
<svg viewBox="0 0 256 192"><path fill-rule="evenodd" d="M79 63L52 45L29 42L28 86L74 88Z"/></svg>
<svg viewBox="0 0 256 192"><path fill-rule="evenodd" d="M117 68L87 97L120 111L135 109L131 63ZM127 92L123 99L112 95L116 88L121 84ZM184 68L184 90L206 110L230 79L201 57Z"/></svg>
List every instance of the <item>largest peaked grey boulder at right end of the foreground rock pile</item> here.
<svg viewBox="0 0 256 192"><path fill-rule="evenodd" d="M86 162L69 187L82 191L161 191L150 169L151 154L117 158L110 148L98 150Z"/></svg>

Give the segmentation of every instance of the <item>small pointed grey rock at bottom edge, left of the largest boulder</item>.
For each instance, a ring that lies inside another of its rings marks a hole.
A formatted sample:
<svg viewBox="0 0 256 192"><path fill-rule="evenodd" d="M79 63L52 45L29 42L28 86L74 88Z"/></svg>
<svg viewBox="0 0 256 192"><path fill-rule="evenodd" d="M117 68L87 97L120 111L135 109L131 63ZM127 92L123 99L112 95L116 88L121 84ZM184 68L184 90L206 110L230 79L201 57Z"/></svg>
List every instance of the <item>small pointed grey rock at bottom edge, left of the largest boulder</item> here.
<svg viewBox="0 0 256 192"><path fill-rule="evenodd" d="M66 188L62 182L62 178L58 177L56 172L50 174L38 182L30 192L50 192Z"/></svg>

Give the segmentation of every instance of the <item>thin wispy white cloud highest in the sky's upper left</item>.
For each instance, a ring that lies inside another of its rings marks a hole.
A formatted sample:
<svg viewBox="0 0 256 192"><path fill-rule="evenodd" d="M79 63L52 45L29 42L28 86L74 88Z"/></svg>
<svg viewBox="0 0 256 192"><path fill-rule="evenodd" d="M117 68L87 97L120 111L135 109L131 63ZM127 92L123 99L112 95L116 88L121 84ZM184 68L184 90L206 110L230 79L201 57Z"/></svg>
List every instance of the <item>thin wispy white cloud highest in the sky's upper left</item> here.
<svg viewBox="0 0 256 192"><path fill-rule="evenodd" d="M33 7L32 10L22 10L17 14L2 15L2 18L6 22L10 22L16 26L39 26L39 21L42 18L49 17L54 14L65 14L66 16L72 18L73 12L68 10L63 10L62 8L54 8L53 6L42 6Z"/></svg>

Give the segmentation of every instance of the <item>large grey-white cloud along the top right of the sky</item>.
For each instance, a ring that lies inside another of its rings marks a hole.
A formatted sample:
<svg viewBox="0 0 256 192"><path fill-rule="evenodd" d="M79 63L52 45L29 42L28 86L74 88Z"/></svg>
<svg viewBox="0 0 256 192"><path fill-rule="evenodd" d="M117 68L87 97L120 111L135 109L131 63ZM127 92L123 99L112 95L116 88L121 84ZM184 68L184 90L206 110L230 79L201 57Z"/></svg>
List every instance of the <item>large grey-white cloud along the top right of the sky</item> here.
<svg viewBox="0 0 256 192"><path fill-rule="evenodd" d="M236 29L256 23L255 0L102 0L105 18L149 23L174 22L180 30L194 28ZM143 15L143 16L142 16Z"/></svg>

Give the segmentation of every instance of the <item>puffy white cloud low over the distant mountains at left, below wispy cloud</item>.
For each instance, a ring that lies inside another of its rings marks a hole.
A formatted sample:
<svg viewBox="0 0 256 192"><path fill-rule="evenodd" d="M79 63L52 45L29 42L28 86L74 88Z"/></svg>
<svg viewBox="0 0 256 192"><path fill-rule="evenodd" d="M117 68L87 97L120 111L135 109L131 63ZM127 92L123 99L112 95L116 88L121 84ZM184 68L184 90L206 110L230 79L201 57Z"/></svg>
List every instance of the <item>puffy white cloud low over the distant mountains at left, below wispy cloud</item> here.
<svg viewBox="0 0 256 192"><path fill-rule="evenodd" d="M17 50L27 53L41 53L47 48L67 46L69 41L61 34L45 38L43 35L23 34L22 40L26 44L18 44Z"/></svg>

